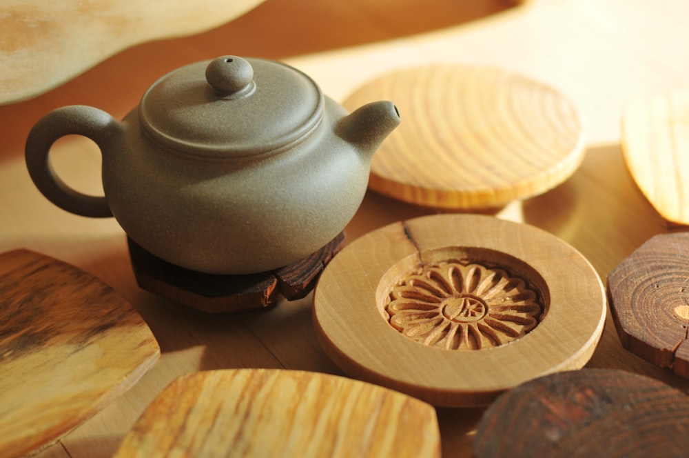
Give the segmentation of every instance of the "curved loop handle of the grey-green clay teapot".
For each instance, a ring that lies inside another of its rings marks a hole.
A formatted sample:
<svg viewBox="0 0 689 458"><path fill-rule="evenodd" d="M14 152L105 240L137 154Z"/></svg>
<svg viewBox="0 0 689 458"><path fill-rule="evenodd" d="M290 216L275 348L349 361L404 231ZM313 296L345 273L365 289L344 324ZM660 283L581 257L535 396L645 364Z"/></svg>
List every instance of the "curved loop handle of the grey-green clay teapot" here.
<svg viewBox="0 0 689 458"><path fill-rule="evenodd" d="M105 197L85 195L58 177L50 163L52 144L65 135L83 135L101 149L121 137L122 126L103 110L73 105L58 108L33 126L26 139L25 159L29 175L41 193L56 206L85 217L112 217Z"/></svg>

